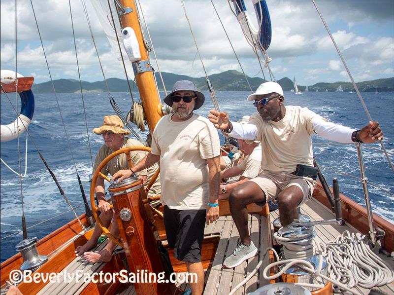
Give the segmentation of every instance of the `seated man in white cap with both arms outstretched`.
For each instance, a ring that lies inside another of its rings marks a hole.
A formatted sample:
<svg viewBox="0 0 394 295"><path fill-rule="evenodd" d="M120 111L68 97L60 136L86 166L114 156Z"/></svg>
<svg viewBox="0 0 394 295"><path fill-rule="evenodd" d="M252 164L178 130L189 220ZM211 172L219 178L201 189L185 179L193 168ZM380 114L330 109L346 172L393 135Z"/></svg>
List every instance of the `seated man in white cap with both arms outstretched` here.
<svg viewBox="0 0 394 295"><path fill-rule="evenodd" d="M317 176L311 135L349 144L383 139L378 122L354 130L328 122L307 108L285 107L282 87L275 82L261 84L247 101L253 101L257 108L249 124L231 122L225 112L210 111L208 115L215 127L229 136L262 142L262 174L234 188L229 197L240 239L234 253L224 261L226 267L235 267L257 254L247 227L246 205L264 205L277 199L281 224L287 226L298 217L297 207L311 197Z"/></svg>

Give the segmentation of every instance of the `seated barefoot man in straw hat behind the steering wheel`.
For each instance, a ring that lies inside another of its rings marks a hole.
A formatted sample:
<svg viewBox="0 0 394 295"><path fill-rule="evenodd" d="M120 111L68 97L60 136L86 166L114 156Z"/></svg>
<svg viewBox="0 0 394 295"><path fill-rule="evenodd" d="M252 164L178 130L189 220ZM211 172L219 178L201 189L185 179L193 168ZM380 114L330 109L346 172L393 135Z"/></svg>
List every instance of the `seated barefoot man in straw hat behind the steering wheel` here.
<svg viewBox="0 0 394 295"><path fill-rule="evenodd" d="M93 166L93 173L95 173L99 164L104 160L108 155L112 152L119 150L124 147L138 147L142 144L134 139L125 137L126 135L131 134L131 132L127 129L124 129L122 120L117 115L109 115L104 116L104 121L101 127L94 128L93 132L102 135L104 139L104 145L102 145L99 149L99 152L96 156L95 163ZM135 150L130 152L131 162L133 164L138 163L145 155L146 151ZM148 169L141 170L138 174L138 177L142 179L144 184L149 184L150 179L155 173L158 165L154 165ZM101 173L104 175L114 175L116 172L122 169L129 169L129 162L127 160L126 154L122 153L117 157L111 159L106 166L104 166L101 170ZM96 197L99 202L99 210L100 210L100 219L104 223L106 227L109 226L109 223L112 219L113 210L110 209L110 204L105 201L104 197L104 179L101 177L97 178L96 186L95 186ZM160 187L160 176L156 179L155 183L150 188L148 195L157 196L161 194ZM151 203L152 204L152 203ZM153 204L158 205L158 204ZM112 222L111 233L117 236L119 234L119 229L117 227L117 222ZM111 259L112 251L115 248L115 243L109 241L106 247L99 253L96 252L86 252L91 248L96 247L97 240L101 235L101 228L98 224L96 224L93 235L91 239L86 242L84 245L79 246L75 250L76 256L84 255L84 258L89 262L98 262L98 261L107 261Z"/></svg>

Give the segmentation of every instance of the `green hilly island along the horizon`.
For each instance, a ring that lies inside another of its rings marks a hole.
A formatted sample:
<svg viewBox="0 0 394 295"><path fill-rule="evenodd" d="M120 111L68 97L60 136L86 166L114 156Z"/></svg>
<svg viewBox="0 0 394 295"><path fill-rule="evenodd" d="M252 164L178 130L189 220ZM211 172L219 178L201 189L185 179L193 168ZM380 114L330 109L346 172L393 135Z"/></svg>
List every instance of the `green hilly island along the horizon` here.
<svg viewBox="0 0 394 295"><path fill-rule="evenodd" d="M198 90L208 90L206 85L205 77L190 77L187 75L178 75L171 73L162 73L165 88L171 90L174 82L177 80L191 80L196 83ZM158 73L155 73L156 80L158 81L159 90L163 91L163 85ZM249 91L248 83L246 82L245 76L235 70L226 71L220 74L212 74L209 76L213 88L215 91ZM253 90L263 83L265 80L260 77L249 77L248 81ZM54 80L54 85L57 93L73 93L80 92L80 83L75 79L58 79ZM284 91L291 91L293 89L293 81L288 77L284 77L277 82L282 86ZM129 91L126 79L109 78L107 79L108 87L111 92L126 92ZM131 89L137 90L137 86L133 81L130 81ZM334 82L325 83L320 82L313 85L308 85L309 91L336 91L341 86L343 91L350 92L355 91L353 84L350 82ZM371 81L358 82L357 86L361 92L394 92L394 77L383 78ZM106 92L106 86L104 81L87 82L82 81L82 88L84 92ZM299 91L305 91L306 85L298 85ZM32 88L34 93L53 93L53 87L51 81L34 84Z"/></svg>

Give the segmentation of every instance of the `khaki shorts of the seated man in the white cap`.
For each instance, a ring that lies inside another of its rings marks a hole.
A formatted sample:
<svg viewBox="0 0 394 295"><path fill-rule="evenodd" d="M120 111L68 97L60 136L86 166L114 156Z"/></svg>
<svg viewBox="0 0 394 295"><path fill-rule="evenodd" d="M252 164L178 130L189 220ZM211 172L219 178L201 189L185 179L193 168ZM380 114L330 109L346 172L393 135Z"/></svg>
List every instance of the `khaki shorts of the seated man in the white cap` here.
<svg viewBox="0 0 394 295"><path fill-rule="evenodd" d="M296 185L302 190L304 194L302 201L301 203L299 203L298 206L305 203L311 198L313 189L316 185L316 181L309 177L301 177L293 175L291 173L281 172L263 173L260 174L258 177L251 179L250 181L260 186L260 188L265 194L267 202L273 202L282 190L292 185ZM259 203L258 205L263 204Z"/></svg>

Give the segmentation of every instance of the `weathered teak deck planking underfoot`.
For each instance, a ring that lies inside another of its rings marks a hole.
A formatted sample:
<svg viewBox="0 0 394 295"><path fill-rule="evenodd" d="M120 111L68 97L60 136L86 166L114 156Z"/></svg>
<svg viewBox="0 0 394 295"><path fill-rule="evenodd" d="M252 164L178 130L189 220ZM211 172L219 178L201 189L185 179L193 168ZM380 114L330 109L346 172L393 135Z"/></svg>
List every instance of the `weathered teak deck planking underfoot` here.
<svg viewBox="0 0 394 295"><path fill-rule="evenodd" d="M325 207L321 206L315 199L311 199L307 204L301 207L301 213L310 216L311 221L328 220L333 219L333 214ZM270 220L273 221L278 217L277 211L270 213ZM230 216L220 217L218 221L205 227L205 236L219 235L220 241L216 251L213 263L205 273L205 291L204 295L222 295L229 294L232 289L235 288L251 271L256 267L260 259L263 258L265 249L269 245L270 233L272 225L268 224L265 217L256 214L249 215L249 228L251 238L256 247L258 247L259 254L244 261L239 266L233 269L223 268L224 259L232 253L236 246L238 239L238 231L235 227L234 222ZM330 240L334 240L336 236L342 234L343 231L349 230L355 232L356 230L349 225L317 225L316 226L316 237L317 242L327 243ZM101 250L105 245L105 242L100 244L94 251ZM385 259L393 268L393 260ZM268 284L269 282L263 279L263 268L269 263L268 255L265 256L264 262L258 272L250 279L243 287L241 287L235 294L242 295L248 294L255 291L261 286ZM99 272L105 263L87 263L82 258L75 258L72 263L67 266L68 272L75 272L77 269L82 269L84 273L93 273L94 271ZM87 283L80 282L79 284L48 284L39 294L83 294L86 293L84 288ZM189 288L187 283L180 284L179 287L183 290ZM381 292L386 294L394 294L394 283L383 287L376 287ZM357 288L361 294L369 294L370 290ZM132 286L125 286L122 291L118 291L115 294L118 295L133 295L135 290Z"/></svg>

